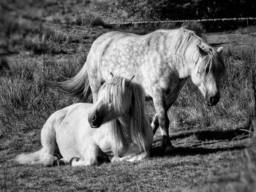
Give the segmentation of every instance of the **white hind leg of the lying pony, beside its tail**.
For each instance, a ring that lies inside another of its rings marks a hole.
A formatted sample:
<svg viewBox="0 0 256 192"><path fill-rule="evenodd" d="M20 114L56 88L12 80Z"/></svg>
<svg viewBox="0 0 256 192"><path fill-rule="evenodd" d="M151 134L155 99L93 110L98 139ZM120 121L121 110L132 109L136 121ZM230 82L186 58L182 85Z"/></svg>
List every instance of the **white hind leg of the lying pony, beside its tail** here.
<svg viewBox="0 0 256 192"><path fill-rule="evenodd" d="M53 123L47 121L41 131L42 142L42 165L53 166L54 152L57 148L56 133L53 129Z"/></svg>

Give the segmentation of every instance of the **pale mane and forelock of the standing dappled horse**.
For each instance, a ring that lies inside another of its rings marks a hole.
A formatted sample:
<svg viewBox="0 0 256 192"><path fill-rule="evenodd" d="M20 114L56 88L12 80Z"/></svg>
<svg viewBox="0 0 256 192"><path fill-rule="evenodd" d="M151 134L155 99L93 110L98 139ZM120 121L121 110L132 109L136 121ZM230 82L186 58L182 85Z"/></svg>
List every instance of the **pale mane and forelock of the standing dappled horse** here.
<svg viewBox="0 0 256 192"><path fill-rule="evenodd" d="M203 58L203 62L201 62L200 72L203 72L209 66L214 76L222 76L224 74L225 65L217 50L208 45L201 37L198 37L194 31L184 27L180 28L178 35L173 37L172 41L174 45L172 55L176 65L185 66L191 62L195 64L200 56L197 51L198 46L207 53Z"/></svg>

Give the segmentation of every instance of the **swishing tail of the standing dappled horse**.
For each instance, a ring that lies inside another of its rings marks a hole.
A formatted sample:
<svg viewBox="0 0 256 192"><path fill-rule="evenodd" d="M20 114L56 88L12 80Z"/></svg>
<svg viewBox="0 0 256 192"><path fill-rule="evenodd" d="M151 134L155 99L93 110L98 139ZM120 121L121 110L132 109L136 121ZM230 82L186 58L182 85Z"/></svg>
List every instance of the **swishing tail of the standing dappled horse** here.
<svg viewBox="0 0 256 192"><path fill-rule="evenodd" d="M86 64L83 65L83 68L75 77L64 82L49 81L48 85L57 88L61 93L67 94L68 96L75 96L82 101L87 101L91 93Z"/></svg>

